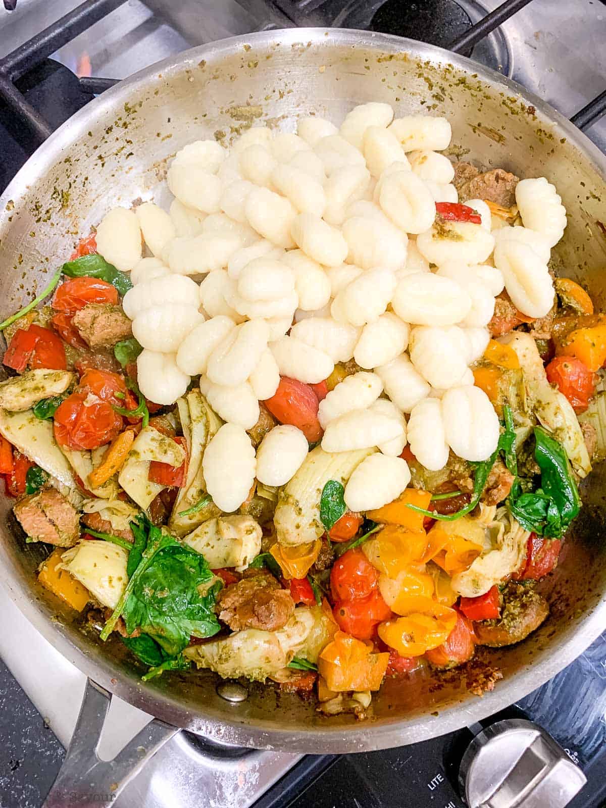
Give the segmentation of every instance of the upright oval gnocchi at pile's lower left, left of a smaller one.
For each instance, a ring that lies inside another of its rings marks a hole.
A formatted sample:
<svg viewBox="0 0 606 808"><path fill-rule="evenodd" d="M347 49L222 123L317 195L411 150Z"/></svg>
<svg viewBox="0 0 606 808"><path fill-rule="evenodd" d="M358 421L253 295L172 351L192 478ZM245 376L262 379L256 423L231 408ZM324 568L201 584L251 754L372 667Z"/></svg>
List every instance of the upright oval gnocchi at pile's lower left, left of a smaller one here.
<svg viewBox="0 0 606 808"><path fill-rule="evenodd" d="M256 467L255 449L246 431L235 423L224 423L202 458L206 489L221 511L232 513L242 505L255 482Z"/></svg>

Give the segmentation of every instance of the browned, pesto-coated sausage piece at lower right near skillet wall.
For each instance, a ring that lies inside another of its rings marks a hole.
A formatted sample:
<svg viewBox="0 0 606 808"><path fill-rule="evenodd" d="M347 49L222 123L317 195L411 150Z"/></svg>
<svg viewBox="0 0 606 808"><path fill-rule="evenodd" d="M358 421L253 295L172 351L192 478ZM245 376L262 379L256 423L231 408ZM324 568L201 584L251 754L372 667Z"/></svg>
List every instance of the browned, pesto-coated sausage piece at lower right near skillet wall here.
<svg viewBox="0 0 606 808"><path fill-rule="evenodd" d="M503 592L505 607L500 620L473 624L478 645L500 648L521 642L538 629L549 614L549 605L531 587L510 583Z"/></svg>

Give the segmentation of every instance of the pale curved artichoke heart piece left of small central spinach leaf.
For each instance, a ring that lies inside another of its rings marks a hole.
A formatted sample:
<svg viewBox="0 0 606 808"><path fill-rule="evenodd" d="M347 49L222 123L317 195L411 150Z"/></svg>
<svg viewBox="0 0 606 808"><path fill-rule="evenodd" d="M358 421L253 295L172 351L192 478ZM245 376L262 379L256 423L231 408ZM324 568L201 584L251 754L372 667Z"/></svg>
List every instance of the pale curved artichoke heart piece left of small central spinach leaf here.
<svg viewBox="0 0 606 808"><path fill-rule="evenodd" d="M274 524L281 545L304 545L322 536L320 498L329 480L343 486L356 466L376 448L352 452L325 452L317 446L309 452L295 476L280 491Z"/></svg>

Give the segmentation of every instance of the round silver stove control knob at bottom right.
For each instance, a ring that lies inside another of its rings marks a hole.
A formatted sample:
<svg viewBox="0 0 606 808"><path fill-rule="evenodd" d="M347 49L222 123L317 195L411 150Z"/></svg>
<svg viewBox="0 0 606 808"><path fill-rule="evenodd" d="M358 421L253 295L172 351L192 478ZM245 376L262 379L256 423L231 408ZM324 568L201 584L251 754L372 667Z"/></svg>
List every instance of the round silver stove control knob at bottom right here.
<svg viewBox="0 0 606 808"><path fill-rule="evenodd" d="M586 782L551 735L520 718L476 735L459 771L469 808L563 808Z"/></svg>

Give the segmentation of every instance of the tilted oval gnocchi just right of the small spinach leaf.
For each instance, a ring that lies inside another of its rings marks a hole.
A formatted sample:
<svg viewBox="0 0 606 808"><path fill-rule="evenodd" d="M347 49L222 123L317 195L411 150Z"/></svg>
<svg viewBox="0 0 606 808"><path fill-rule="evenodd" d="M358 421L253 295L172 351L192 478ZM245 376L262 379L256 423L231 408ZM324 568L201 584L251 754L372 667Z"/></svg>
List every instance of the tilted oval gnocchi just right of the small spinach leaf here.
<svg viewBox="0 0 606 808"><path fill-rule="evenodd" d="M343 499L350 511L370 511L393 502L410 482L410 469L402 457L381 452L365 457L353 470Z"/></svg>

